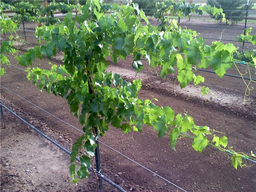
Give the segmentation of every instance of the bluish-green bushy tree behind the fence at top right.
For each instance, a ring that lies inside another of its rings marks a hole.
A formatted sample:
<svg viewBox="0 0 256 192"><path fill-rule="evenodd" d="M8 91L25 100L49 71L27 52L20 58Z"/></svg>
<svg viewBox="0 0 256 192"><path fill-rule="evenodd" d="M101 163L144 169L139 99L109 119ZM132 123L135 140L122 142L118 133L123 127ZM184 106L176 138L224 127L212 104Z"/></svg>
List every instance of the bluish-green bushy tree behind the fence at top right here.
<svg viewBox="0 0 256 192"><path fill-rule="evenodd" d="M207 4L210 4L211 6L216 6L217 8L222 8L223 13L226 14L226 19L231 23L242 21L246 16L245 10L247 6L247 0L230 0L230 1L208 0ZM253 1L250 0L248 10L250 10L253 7L253 5L254 5ZM215 19L220 20L221 22L222 17L219 16Z"/></svg>

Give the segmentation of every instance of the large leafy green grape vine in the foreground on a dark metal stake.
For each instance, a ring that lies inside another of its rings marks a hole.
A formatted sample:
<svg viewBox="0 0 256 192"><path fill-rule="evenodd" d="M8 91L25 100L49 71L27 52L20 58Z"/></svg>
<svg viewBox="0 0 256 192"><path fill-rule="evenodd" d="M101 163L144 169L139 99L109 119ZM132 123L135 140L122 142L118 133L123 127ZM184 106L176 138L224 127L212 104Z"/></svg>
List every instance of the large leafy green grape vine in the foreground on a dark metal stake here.
<svg viewBox="0 0 256 192"><path fill-rule="evenodd" d="M27 67L28 80L41 91L65 98L70 112L83 126L86 134L73 144L70 158L74 183L88 177L96 139L105 134L110 124L125 133L142 132L143 125L152 126L158 137L169 136L174 150L177 139L191 138L192 148L197 152L212 146L231 154L236 169L246 165L246 158L255 160L253 153L235 152L228 146L226 136L217 136L208 126L197 126L188 114L174 114L170 106L156 106L154 100L138 98L140 80L128 82L119 74L106 72L108 56L118 62L132 54L132 67L137 72L144 68L141 59L146 58L151 67L161 66L162 78L177 72L180 87L184 88L190 82L195 85L204 82L204 77L194 74L197 68L211 67L219 77L232 68L236 47L222 42L206 45L195 31L182 29L175 20L164 18L164 12L173 9L170 2L156 4L157 18L162 23L152 26L138 4L122 5L117 10L101 1L88 0L75 20L68 12L59 23L37 27L40 45L17 58ZM107 14L109 7L111 14ZM200 13L208 9L204 7L193 9ZM41 39L46 43L41 44ZM57 50L64 53L63 65L52 65L51 70L31 68L35 58L51 58ZM81 160L78 168L76 156Z"/></svg>

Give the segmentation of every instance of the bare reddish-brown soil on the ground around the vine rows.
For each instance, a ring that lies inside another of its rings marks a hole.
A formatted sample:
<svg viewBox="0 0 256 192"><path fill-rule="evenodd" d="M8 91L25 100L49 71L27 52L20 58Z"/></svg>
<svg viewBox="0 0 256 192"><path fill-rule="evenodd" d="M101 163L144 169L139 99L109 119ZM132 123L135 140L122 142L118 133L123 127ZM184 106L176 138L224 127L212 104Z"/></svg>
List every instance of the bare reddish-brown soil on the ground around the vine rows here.
<svg viewBox="0 0 256 192"><path fill-rule="evenodd" d="M49 68L49 62L60 64L61 56L59 54L58 56L59 58L53 60L45 58L42 61L36 60L35 63L40 63L42 68ZM14 58L9 58L11 64L19 66ZM130 68L131 60L127 59L111 64L108 70L118 72L127 80L132 80L135 76ZM64 99L48 95L44 91L40 92L28 82L25 72L13 67L5 67L5 69L6 74L1 78L2 86L80 128L78 120L70 114ZM235 70L232 69L229 72L235 72ZM175 76L168 76L166 80L160 81L155 72L148 67L145 67L141 76L138 76L147 85L142 87L139 96L142 99L158 98L159 101L155 102L156 104L171 106L176 113L183 113L186 110L194 117L196 124L208 125L212 129L225 132L229 139L229 146L233 146L234 150L247 153L256 151L255 92L251 93L251 102L242 105L245 86L240 79L224 77L220 80L214 74L203 72L198 74L204 74L207 82L205 85L216 92L216 98L215 96L210 98L212 102L205 102L205 98L193 96L191 92L186 94L186 91L177 90L174 93ZM192 85L188 87L188 91L191 90L197 95L196 88ZM188 96L190 96L189 99L186 99ZM2 87L1 100L6 106L68 149L80 135L77 130ZM229 100L232 101L226 102ZM88 180L84 180L73 189L74 185L69 182L68 157L62 151L55 149L52 144L46 144L42 137L32 133L7 112L4 113L8 123L6 123L6 130L1 130L1 178L4 178L1 179L1 191L3 189L15 191L12 187L22 190L24 188L23 191L97 191L92 174ZM110 126L110 130L100 140L189 192L253 192L255 190L255 165L235 170L226 154L214 148L207 148L199 154L192 149L190 139L178 140L177 152L175 152L168 145L168 137L159 139L157 134L152 127L148 126L144 126L142 134L137 132L123 134L121 130ZM42 155L38 154L38 148L42 151ZM21 151L22 155L20 155ZM125 190L180 191L102 144L100 151L102 173ZM35 154L36 158L30 157L31 154ZM38 161L40 166L36 165ZM55 161L56 170L53 170ZM28 162L32 162L31 166ZM9 163L8 168L6 163ZM32 173L26 172L26 169L31 170ZM56 174L53 174L53 171ZM35 182L35 177L42 182ZM104 182L104 191L115 191L115 189Z"/></svg>

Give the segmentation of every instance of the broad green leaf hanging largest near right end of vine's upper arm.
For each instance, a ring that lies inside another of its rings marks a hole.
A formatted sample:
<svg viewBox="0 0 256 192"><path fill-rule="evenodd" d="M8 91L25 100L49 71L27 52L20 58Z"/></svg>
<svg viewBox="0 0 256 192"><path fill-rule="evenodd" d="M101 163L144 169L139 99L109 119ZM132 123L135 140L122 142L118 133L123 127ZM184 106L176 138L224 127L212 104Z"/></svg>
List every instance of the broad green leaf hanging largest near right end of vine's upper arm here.
<svg viewBox="0 0 256 192"><path fill-rule="evenodd" d="M216 74L220 77L223 77L226 70L232 68L232 65L232 56L227 50L218 51L212 56L212 69L214 69Z"/></svg>

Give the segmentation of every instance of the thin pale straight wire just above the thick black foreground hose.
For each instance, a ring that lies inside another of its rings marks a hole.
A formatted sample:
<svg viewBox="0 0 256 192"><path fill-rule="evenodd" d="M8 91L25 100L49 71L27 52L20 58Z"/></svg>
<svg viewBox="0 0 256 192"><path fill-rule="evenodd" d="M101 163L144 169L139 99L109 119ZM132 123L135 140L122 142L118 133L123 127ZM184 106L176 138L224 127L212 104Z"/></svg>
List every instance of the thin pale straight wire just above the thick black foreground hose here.
<svg viewBox="0 0 256 192"><path fill-rule="evenodd" d="M85 132L83 132L82 130L80 130L80 129L76 128L75 126L72 126L72 125L71 125L71 124L69 124L68 122L65 122L64 120L62 120L62 119L60 119L60 118L58 118L58 117L54 116L53 114L51 114L51 113L47 112L46 110L44 110L44 109L40 108L40 107L39 107L39 106L37 106L36 104L33 104L32 102L30 102L30 101L26 100L26 99L25 99L25 98L23 98L22 96L19 96L18 94L14 93L13 91L9 90L8 88L6 88L6 87L4 87L4 86L2 86L2 85L0 85L0 86L1 86L2 88L5 88L6 90L8 90L9 92L11 92L12 94L14 94L14 95L16 95L16 96L20 97L21 99L25 100L26 102L29 102L30 104L34 105L35 107L39 108L40 110L43 110L43 111L44 111L44 112L46 112L47 114L50 114L51 116L53 116L54 118L56 118L56 119L60 120L61 122L64 122L65 124L67 124L67 125L71 126L72 128L75 128L75 129L76 129L76 130L78 130L79 132L81 132L81 133L83 133L83 134L86 134L86 133L85 133ZM116 150L116 149L114 149L114 148L112 148L112 147L108 146L108 145L107 145L107 144L105 144L104 142L102 142L102 141L100 141L100 140L97 140L97 141L98 141L99 143L103 144L104 146L106 146L106 147L110 148L111 150L114 150L114 151L115 151L115 152L117 152L118 154L121 154L122 156L124 156L124 157L125 157L125 158L127 158L128 160L131 160L132 162L136 163L137 165L141 166L142 168L144 168L144 169L146 169L146 170L148 170L148 171L152 172L152 173L153 173L153 174L155 174L156 176L158 176L158 177L160 177L160 178L164 179L166 182L168 182L168 183L172 184L173 186L176 186L176 187L178 187L179 189L183 190L182 188L180 188L180 187L179 187L179 186L177 186L176 184L174 184L174 183L170 182L169 180L167 180L166 178L164 178L164 177L162 177L162 176L158 175L156 172L153 172L152 170L150 170L150 169L146 168L146 167L145 167L145 166L143 166L142 164L140 164L140 163L138 163L138 162L136 162L136 161L132 160L131 158L129 158L129 157L127 157L126 155L124 155L124 154L122 154L121 152L119 152L118 150ZM186 190L183 190L183 191L184 191L184 192L186 192Z"/></svg>

